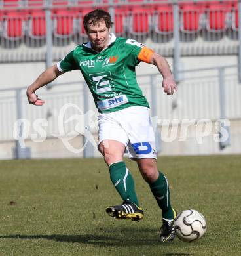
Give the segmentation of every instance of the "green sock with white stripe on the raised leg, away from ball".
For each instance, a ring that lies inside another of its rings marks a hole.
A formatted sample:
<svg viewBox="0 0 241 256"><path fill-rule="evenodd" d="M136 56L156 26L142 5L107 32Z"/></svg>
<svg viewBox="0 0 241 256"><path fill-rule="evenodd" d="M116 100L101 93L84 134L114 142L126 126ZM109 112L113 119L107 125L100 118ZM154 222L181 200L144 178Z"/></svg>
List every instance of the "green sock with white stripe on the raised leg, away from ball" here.
<svg viewBox="0 0 241 256"><path fill-rule="evenodd" d="M130 200L130 202L135 203L139 207L134 179L126 168L124 161L111 164L109 166L109 173L111 175L111 181L119 192L122 200Z"/></svg>

